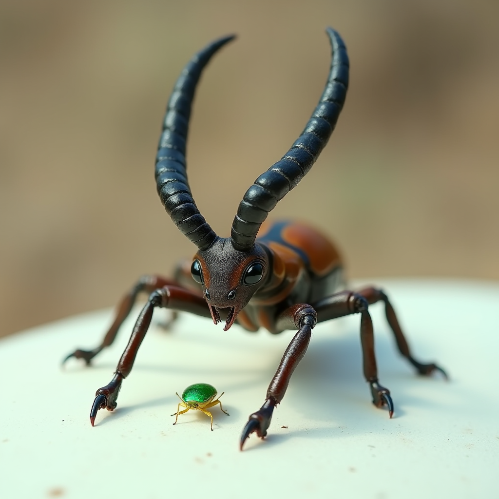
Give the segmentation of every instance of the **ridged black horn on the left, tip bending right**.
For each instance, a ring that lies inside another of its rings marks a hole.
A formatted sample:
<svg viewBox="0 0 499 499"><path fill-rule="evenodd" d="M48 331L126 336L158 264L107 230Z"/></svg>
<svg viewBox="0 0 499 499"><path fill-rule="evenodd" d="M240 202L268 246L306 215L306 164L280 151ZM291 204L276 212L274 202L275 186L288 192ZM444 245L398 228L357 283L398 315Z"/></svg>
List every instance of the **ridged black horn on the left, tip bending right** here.
<svg viewBox="0 0 499 499"><path fill-rule="evenodd" d="M161 202L180 232L200 250L208 249L217 235L199 212L187 181L186 141L191 104L203 68L233 38L234 35L225 36L210 43L182 70L168 101L156 156L156 184Z"/></svg>

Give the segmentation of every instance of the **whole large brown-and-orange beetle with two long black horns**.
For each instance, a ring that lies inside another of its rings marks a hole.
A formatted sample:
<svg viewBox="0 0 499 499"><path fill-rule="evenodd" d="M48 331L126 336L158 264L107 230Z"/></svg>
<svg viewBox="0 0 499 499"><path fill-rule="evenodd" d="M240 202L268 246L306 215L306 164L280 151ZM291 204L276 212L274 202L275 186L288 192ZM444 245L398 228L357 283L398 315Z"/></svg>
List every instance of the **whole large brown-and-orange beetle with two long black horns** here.
<svg viewBox="0 0 499 499"><path fill-rule="evenodd" d="M215 52L234 36L210 43L184 67L166 109L156 157L156 182L167 213L198 252L192 264L179 265L172 279L159 275L140 278L120 302L102 343L93 350L76 350L66 357L90 363L114 341L137 295L149 293L113 379L96 392L90 412L92 426L99 409L112 411L116 407L122 381L132 369L155 307L211 317L215 324L225 319L226 331L236 321L250 331L260 327L271 333L297 330L270 381L263 405L249 417L241 435L241 450L251 433L261 438L267 434L272 412L284 397L317 322L360 313L364 376L373 403L387 406L390 418L394 406L390 391L378 381L370 304L384 302L398 349L420 374L440 371L446 376L436 364L424 364L412 356L394 309L381 289L368 287L354 292L342 288L341 257L324 236L304 224L263 224L277 202L310 171L345 102L349 73L345 44L335 30L327 28L326 32L331 42L331 67L319 103L291 148L244 195L230 238L217 236L199 212L187 180L185 155L191 104L201 72Z"/></svg>

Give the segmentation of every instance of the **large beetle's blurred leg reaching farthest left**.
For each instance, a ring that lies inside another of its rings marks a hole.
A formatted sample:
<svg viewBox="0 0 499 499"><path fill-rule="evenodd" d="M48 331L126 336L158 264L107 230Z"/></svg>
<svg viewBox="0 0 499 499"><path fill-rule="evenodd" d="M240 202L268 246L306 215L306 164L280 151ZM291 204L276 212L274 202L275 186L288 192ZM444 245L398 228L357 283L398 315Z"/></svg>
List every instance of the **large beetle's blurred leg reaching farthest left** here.
<svg viewBox="0 0 499 499"><path fill-rule="evenodd" d="M145 291L147 293L152 293L155 289L162 288L163 286L175 285L176 282L172 279L167 279L159 275L144 275L139 279L139 281L132 287L132 289L123 296L120 303L118 304L118 311L116 317L108 329L102 343L94 348L93 350L75 350L70 353L63 361L64 364L68 359L74 357L75 359L83 359L87 365L90 364L91 360L104 348L111 345L118 334L118 330L123 324L123 321L128 317L130 310L132 309L137 296L140 292Z"/></svg>

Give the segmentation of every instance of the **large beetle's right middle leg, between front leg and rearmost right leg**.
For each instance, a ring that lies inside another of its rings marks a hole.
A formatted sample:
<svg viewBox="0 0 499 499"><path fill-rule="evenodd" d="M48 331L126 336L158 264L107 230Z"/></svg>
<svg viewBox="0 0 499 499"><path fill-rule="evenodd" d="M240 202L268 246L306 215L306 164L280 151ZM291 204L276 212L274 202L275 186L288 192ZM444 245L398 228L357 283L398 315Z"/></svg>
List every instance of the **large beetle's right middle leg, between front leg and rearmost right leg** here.
<svg viewBox="0 0 499 499"><path fill-rule="evenodd" d="M314 304L319 321L335 319L354 313L360 313L360 342L362 345L363 371L371 388L373 404L376 407L388 408L390 418L393 416L393 401L390 390L378 383L378 368L374 353L374 332L369 302L365 296L352 291L341 291Z"/></svg>

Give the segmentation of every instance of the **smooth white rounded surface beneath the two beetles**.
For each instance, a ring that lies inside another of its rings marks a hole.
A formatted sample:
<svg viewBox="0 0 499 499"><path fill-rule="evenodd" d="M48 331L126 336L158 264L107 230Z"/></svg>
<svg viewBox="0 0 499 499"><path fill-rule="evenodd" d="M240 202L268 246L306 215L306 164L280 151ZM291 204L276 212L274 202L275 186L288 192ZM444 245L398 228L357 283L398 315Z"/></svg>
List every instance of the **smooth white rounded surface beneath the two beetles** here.
<svg viewBox="0 0 499 499"><path fill-rule="evenodd" d="M153 326L118 408L89 422L135 317L92 368L61 359L97 344L110 311L37 327L0 342L0 497L9 498L499 498L499 285L378 281L415 356L451 382L415 376L373 305L380 382L395 415L376 409L362 378L359 317L317 326L274 411L265 441L239 452L241 431L263 402L291 332L228 332L181 315ZM28 313L28 311L27 311ZM164 317L161 311L154 320ZM175 392L211 383L226 416L214 431L200 412L170 416ZM288 429L281 428L288 426Z"/></svg>

